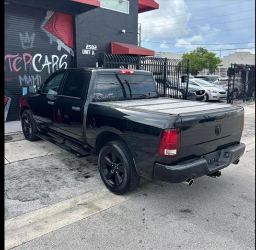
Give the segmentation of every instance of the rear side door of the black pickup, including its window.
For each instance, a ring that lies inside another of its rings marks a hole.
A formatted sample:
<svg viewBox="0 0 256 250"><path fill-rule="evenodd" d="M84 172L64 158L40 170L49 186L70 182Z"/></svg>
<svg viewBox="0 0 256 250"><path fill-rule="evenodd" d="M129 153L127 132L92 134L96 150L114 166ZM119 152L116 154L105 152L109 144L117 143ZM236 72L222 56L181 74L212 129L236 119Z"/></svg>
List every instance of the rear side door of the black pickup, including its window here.
<svg viewBox="0 0 256 250"><path fill-rule="evenodd" d="M56 99L55 129L83 142L83 115L90 72L70 70Z"/></svg>

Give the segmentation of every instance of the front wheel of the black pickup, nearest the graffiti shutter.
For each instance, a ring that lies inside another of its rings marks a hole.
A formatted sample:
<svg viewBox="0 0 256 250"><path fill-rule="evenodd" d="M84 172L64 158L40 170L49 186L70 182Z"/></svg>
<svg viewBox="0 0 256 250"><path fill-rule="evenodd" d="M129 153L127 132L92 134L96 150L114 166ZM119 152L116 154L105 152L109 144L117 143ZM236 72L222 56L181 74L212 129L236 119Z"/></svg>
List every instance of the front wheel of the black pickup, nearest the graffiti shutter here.
<svg viewBox="0 0 256 250"><path fill-rule="evenodd" d="M38 132L36 122L30 110L25 110L21 115L21 127L25 138L28 141L37 141L40 138L36 135Z"/></svg>

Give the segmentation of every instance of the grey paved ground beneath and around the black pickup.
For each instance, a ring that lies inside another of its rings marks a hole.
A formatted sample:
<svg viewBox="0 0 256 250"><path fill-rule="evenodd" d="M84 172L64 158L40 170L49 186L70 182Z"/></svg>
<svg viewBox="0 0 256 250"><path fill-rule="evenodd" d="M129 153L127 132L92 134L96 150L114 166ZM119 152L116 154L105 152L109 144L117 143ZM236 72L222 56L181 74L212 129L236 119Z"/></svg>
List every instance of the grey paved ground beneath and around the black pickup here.
<svg viewBox="0 0 256 250"><path fill-rule="evenodd" d="M96 157L11 135L5 249L255 249L255 115L247 114L247 151L220 178L191 187L142 180L122 196L104 187Z"/></svg>

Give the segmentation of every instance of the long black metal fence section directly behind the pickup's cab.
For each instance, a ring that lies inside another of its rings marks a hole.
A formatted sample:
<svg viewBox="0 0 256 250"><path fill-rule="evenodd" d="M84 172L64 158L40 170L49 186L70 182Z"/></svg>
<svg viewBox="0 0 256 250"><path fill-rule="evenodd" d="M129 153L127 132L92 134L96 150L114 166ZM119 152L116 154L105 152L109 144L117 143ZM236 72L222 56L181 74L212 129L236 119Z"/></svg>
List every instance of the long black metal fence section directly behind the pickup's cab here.
<svg viewBox="0 0 256 250"><path fill-rule="evenodd" d="M101 53L99 61L100 67L103 68L141 69L152 72L161 97L188 97L189 60Z"/></svg>

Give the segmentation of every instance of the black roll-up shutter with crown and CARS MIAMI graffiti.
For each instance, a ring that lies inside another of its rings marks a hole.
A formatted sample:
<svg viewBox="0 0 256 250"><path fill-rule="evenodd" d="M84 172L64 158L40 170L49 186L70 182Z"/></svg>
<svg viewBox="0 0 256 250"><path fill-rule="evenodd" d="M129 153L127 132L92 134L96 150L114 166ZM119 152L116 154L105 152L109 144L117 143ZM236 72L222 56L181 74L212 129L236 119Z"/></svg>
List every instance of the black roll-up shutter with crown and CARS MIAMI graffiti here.
<svg viewBox="0 0 256 250"><path fill-rule="evenodd" d="M55 70L73 67L73 17L5 2L5 121L18 120L19 98Z"/></svg>

